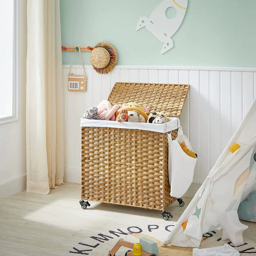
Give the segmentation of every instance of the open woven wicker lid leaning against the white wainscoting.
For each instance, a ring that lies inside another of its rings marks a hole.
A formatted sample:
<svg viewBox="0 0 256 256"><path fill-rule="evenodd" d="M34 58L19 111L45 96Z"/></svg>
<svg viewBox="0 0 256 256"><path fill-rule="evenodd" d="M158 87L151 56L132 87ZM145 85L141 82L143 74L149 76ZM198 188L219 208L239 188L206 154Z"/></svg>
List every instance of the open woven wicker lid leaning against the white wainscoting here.
<svg viewBox="0 0 256 256"><path fill-rule="evenodd" d="M148 113L157 111L180 117L188 90L188 84L115 83L108 101L112 105L136 102L148 107Z"/></svg>

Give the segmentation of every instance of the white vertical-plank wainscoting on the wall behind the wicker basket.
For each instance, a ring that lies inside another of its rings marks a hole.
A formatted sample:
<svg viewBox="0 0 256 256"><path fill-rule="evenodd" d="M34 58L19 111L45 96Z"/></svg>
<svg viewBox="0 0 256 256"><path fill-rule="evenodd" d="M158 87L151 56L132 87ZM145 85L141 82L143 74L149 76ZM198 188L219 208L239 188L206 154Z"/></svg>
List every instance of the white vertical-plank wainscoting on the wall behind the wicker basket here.
<svg viewBox="0 0 256 256"><path fill-rule="evenodd" d="M116 82L190 84L181 114L183 132L198 154L194 182L202 183L256 97L255 68L116 66L99 75L85 66L86 92L68 91L69 65L63 65L66 102L65 180L80 182L80 118L87 108L107 99ZM74 65L74 74L83 74Z"/></svg>

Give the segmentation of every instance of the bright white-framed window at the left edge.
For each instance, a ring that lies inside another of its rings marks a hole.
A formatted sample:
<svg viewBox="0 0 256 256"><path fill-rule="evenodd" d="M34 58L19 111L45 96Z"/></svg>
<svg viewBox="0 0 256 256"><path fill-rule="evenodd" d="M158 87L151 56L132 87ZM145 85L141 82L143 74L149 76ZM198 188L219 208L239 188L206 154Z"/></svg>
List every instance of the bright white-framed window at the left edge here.
<svg viewBox="0 0 256 256"><path fill-rule="evenodd" d="M0 123L18 120L17 0L0 0Z"/></svg>

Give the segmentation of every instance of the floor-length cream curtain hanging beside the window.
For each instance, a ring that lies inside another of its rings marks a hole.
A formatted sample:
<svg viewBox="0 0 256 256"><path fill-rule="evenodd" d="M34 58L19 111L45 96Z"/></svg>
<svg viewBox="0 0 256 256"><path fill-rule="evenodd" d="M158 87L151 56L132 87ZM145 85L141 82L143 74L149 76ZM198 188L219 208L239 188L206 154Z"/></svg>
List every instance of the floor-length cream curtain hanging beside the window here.
<svg viewBox="0 0 256 256"><path fill-rule="evenodd" d="M59 0L27 0L27 191L63 182L63 87Z"/></svg>

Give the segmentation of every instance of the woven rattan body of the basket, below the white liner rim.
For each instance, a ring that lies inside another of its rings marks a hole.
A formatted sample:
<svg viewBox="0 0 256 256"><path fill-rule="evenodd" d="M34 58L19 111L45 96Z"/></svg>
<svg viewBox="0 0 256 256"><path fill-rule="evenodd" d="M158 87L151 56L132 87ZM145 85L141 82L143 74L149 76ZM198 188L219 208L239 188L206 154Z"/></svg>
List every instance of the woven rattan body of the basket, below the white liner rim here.
<svg viewBox="0 0 256 256"><path fill-rule="evenodd" d="M164 210L170 196L165 133L82 127L81 198ZM172 138L177 130L172 131Z"/></svg>

